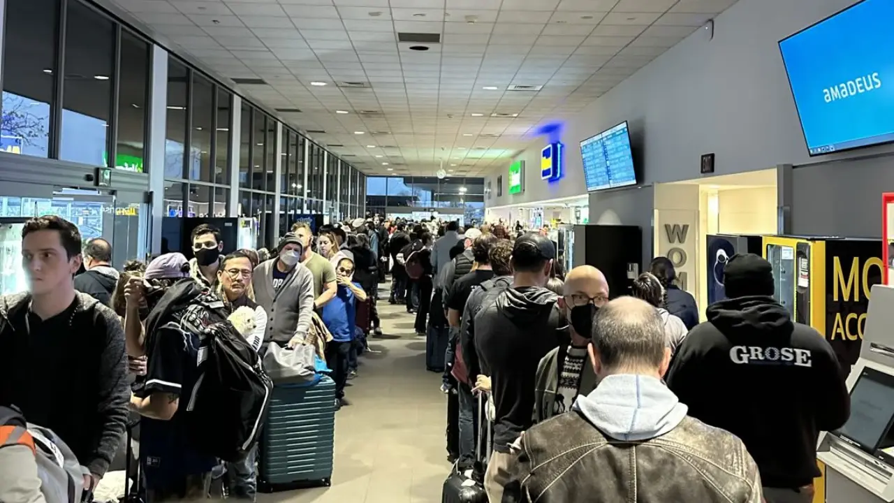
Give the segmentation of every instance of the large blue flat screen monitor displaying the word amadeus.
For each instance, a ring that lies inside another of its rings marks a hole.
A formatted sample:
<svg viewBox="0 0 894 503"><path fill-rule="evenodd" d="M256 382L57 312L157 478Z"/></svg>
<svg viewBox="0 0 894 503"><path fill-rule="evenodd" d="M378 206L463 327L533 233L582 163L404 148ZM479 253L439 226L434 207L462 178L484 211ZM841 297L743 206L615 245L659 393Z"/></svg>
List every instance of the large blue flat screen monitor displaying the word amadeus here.
<svg viewBox="0 0 894 503"><path fill-rule="evenodd" d="M864 0L780 41L811 156L894 141L894 2Z"/></svg>

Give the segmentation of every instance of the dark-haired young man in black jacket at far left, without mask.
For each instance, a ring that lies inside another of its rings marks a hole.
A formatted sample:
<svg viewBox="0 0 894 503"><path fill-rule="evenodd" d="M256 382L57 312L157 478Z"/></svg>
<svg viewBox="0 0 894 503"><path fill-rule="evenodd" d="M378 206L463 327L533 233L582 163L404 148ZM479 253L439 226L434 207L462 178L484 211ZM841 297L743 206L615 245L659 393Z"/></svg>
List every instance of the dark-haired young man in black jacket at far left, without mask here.
<svg viewBox="0 0 894 503"><path fill-rule="evenodd" d="M29 292L0 297L0 404L53 430L89 469L108 469L127 422L124 332L111 308L74 289L80 232L55 215L21 231Z"/></svg>

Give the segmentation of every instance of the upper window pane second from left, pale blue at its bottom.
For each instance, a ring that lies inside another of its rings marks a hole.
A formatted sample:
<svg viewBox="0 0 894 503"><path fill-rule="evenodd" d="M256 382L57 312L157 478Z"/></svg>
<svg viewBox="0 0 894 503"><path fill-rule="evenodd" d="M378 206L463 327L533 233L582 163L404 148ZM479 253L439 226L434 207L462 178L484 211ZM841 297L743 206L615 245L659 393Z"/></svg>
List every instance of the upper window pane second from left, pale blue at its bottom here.
<svg viewBox="0 0 894 503"><path fill-rule="evenodd" d="M85 4L69 2L66 27L59 158L107 166L114 24Z"/></svg>

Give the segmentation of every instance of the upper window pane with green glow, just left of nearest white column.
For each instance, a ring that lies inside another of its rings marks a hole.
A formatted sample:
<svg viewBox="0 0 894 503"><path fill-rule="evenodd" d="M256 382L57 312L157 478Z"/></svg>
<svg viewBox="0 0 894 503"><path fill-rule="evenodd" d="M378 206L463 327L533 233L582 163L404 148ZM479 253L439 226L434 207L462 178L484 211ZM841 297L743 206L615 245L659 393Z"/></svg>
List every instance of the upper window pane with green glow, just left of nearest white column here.
<svg viewBox="0 0 894 503"><path fill-rule="evenodd" d="M121 32L118 141L114 167L143 173L146 166L149 45L128 30ZM64 141L64 138L63 138Z"/></svg>

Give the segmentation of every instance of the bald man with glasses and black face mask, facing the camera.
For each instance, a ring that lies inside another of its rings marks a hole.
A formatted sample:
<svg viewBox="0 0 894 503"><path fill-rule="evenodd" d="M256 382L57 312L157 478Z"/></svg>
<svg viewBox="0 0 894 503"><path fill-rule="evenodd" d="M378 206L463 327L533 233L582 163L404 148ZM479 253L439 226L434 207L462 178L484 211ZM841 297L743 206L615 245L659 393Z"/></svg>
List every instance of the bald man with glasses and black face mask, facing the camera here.
<svg viewBox="0 0 894 503"><path fill-rule="evenodd" d="M586 346L593 337L596 311L608 302L609 284L599 269L578 266L565 277L559 307L569 320L571 337L561 341L537 366L535 422L568 412L578 395L588 395L596 387Z"/></svg>

